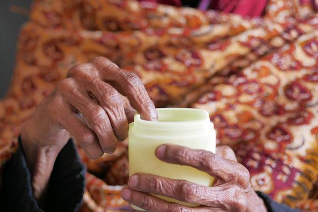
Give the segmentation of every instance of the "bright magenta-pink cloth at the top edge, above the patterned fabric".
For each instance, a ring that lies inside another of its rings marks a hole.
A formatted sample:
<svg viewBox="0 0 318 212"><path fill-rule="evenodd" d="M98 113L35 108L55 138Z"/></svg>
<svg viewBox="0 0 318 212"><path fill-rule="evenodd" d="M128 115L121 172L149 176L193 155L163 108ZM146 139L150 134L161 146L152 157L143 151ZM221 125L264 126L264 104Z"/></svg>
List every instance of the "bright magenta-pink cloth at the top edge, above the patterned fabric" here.
<svg viewBox="0 0 318 212"><path fill-rule="evenodd" d="M181 0L138 0L140 2L156 2L158 4L181 7ZM193 0L195 1L195 0ZM206 0L203 0L206 1ZM203 2L201 1L201 2ZM199 2L199 1L198 1ZM262 16L267 0L211 0L209 9L242 16ZM204 8L200 8L203 10ZM206 8L207 9L207 8Z"/></svg>

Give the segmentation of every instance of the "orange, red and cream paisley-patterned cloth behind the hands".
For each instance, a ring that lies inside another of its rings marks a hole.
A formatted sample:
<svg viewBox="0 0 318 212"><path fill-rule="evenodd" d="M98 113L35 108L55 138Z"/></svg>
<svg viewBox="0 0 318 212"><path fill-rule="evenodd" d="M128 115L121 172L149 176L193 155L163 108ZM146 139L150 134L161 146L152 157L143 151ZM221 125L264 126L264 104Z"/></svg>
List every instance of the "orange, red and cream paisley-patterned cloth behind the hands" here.
<svg viewBox="0 0 318 212"><path fill-rule="evenodd" d="M251 184L318 211L317 1L270 0L262 18L134 0L36 0L0 101L0 168L21 123L70 67L105 56L137 74L156 107L209 112ZM81 211L128 210L127 145L89 160ZM106 171L108 170L108 171Z"/></svg>

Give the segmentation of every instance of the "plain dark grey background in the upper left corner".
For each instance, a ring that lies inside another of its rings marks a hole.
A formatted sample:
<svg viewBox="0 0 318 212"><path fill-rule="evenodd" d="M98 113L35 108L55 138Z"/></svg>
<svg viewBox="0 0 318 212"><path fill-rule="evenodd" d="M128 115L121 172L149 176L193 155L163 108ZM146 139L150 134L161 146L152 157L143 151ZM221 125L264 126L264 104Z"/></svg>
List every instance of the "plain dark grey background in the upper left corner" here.
<svg viewBox="0 0 318 212"><path fill-rule="evenodd" d="M0 1L0 98L10 84L14 69L16 41L21 25L28 20L32 0Z"/></svg>

